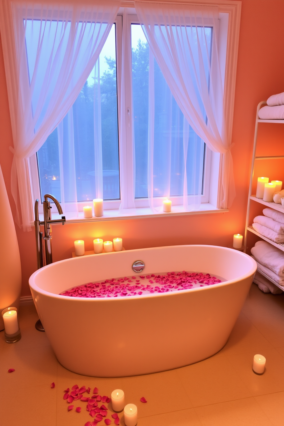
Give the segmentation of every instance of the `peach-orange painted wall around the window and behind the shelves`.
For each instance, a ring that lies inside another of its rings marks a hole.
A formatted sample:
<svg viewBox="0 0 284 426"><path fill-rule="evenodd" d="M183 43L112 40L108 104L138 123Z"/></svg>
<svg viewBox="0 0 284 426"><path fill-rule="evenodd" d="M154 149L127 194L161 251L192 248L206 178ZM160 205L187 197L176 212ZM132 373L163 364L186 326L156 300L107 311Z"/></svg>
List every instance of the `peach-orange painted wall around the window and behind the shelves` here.
<svg viewBox="0 0 284 426"><path fill-rule="evenodd" d="M283 52L284 1L243 0L232 134L237 196L229 213L57 225L53 227L54 260L71 257L73 242L79 238L86 241L86 250L92 249L92 239L98 236L103 239L121 236L125 248L133 249L196 243L229 246L234 233L244 233L255 110L259 101L284 91ZM258 155L284 154L284 126L269 124L263 127L259 140ZM14 214L10 191L10 145L13 146L13 141L0 45L0 164ZM284 180L283 167L275 167L275 163L268 163L268 169L264 169L264 164L259 167L262 167L259 175L265 176L265 171L270 173L267 176L271 179ZM253 206L253 211L257 214L261 208ZM29 276L36 270L34 233L24 233L17 225L16 230L23 271L22 295L26 296L30 294ZM249 244L254 242L254 236L251 235Z"/></svg>

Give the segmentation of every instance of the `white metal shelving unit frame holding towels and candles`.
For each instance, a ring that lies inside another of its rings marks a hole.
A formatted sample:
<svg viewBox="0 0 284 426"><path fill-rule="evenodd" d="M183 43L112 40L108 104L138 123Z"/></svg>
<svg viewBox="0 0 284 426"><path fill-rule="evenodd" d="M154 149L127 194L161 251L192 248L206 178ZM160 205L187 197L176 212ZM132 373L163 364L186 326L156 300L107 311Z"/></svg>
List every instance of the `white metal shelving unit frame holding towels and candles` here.
<svg viewBox="0 0 284 426"><path fill-rule="evenodd" d="M252 167L250 172L250 187L249 187L249 196L247 200L247 218L246 218L246 227L244 231L244 252L246 252L247 248L247 235L248 232L252 232L261 239L264 239L265 241L269 242L270 244L274 245L275 247L279 248L280 250L284 251L284 244L278 244L265 236L261 235L260 233L256 232L252 226L249 225L249 219L250 219L250 202L255 201L257 203L263 204L266 207L273 208L274 210L278 210L281 213L284 213L284 208L281 206L281 204L276 203L268 203L266 201L263 201L262 199L256 198L255 195L252 195L252 179L253 179L253 172L254 172L254 165L256 160L279 160L283 159L284 155L271 155L271 156L265 156L265 157L256 157L256 145L257 145L257 134L258 134L258 123L277 123L277 124L284 124L284 120L261 120L258 118L258 111L261 109L263 105L266 105L266 101L261 101L256 109L256 119L255 119L255 135L254 135L254 141L253 141L253 151L252 151ZM264 272L260 271L258 269L258 272L261 273L261 275L265 276L265 278L269 279L273 284L277 285L277 287L281 288L281 290L284 290L284 286L279 285L277 282L275 282L272 278L267 276Z"/></svg>

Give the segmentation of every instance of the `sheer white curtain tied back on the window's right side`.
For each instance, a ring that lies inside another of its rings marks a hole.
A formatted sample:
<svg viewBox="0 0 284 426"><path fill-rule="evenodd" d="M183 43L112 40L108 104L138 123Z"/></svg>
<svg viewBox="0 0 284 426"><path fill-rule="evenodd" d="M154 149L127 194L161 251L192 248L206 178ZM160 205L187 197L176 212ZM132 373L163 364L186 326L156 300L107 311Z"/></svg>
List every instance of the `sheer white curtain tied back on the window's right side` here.
<svg viewBox="0 0 284 426"><path fill-rule="evenodd" d="M218 60L218 7L134 3L149 47L184 118L212 151L221 154L218 207L226 208L228 193L229 204L235 196L235 185ZM213 30L210 43L209 28Z"/></svg>

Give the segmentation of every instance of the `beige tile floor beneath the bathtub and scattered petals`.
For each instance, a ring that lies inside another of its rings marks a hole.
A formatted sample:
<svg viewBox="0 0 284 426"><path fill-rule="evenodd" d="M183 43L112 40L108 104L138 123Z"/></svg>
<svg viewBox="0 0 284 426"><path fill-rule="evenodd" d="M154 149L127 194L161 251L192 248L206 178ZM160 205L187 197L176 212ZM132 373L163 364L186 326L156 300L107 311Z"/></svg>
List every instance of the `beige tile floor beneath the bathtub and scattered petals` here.
<svg viewBox="0 0 284 426"><path fill-rule="evenodd" d="M86 403L74 402L81 413L67 412L63 400L63 390L75 384L97 386L101 395L123 389L126 403L138 406L138 426L284 425L284 294L264 294L253 284L218 354L191 366L137 377L103 379L66 370L45 333L34 328L36 320L33 306L22 307L22 339L7 344L0 333L1 426L84 426L92 420ZM252 372L256 353L267 358L262 376ZM15 368L14 373L9 374L9 368ZM55 389L50 388L52 382ZM142 396L146 404L140 402Z"/></svg>

